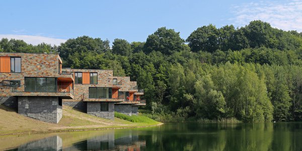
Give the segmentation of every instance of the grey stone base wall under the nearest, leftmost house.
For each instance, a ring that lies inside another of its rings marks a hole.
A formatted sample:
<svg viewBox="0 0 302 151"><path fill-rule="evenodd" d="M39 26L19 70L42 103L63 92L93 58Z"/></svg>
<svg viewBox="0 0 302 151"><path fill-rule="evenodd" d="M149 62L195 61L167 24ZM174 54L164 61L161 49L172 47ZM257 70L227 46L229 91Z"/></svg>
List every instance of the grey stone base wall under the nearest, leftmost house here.
<svg viewBox="0 0 302 151"><path fill-rule="evenodd" d="M18 97L18 113L49 123L58 123L63 114L58 97Z"/></svg>

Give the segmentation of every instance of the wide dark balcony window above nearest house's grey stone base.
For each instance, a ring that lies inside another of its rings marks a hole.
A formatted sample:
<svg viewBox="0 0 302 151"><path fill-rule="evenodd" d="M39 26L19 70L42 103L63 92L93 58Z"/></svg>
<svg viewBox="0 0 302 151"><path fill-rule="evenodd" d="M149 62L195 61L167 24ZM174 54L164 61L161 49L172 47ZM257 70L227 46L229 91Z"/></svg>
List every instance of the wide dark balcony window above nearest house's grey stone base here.
<svg viewBox="0 0 302 151"><path fill-rule="evenodd" d="M25 78L25 92L56 92L55 78Z"/></svg>

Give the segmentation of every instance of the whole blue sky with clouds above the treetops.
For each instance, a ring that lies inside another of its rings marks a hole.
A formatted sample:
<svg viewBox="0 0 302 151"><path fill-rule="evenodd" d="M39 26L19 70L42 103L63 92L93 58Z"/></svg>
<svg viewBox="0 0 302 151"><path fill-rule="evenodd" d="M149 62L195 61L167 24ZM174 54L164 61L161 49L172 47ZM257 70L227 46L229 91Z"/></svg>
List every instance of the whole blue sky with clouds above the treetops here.
<svg viewBox="0 0 302 151"><path fill-rule="evenodd" d="M260 19L283 30L302 31L301 1L2 1L0 38L59 44L87 35L145 41L160 27L186 39L198 27Z"/></svg>

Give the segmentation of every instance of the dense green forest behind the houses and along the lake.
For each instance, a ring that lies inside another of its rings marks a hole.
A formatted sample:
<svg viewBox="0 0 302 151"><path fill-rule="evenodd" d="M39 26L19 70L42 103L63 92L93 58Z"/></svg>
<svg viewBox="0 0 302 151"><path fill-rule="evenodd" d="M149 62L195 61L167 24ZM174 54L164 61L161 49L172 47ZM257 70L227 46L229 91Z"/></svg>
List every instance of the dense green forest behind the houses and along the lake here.
<svg viewBox="0 0 302 151"><path fill-rule="evenodd" d="M63 66L113 69L144 89L153 118L302 120L302 33L252 21L202 26L182 39L165 27L145 42L82 36L59 46L2 39L0 52L59 53ZM166 119L166 120L167 120Z"/></svg>

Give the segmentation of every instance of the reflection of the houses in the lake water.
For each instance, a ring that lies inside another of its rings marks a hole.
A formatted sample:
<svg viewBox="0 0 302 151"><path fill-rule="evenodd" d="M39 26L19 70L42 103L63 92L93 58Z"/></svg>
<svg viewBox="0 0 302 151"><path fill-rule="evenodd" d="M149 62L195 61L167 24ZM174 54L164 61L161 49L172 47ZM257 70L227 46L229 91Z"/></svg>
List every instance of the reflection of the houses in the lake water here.
<svg viewBox="0 0 302 151"><path fill-rule="evenodd" d="M145 140L138 139L138 134L119 133L118 136L115 136L114 131L81 139L63 147L64 142L68 141L67 139L62 139L60 134L57 134L8 150L140 150L142 146L146 145Z"/></svg>

